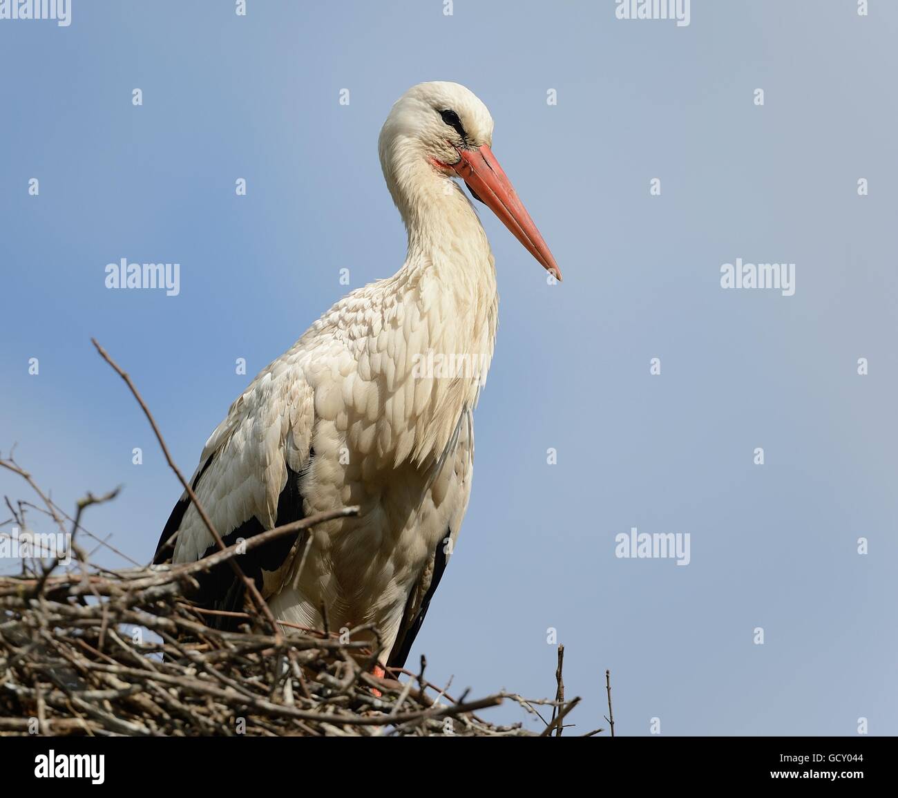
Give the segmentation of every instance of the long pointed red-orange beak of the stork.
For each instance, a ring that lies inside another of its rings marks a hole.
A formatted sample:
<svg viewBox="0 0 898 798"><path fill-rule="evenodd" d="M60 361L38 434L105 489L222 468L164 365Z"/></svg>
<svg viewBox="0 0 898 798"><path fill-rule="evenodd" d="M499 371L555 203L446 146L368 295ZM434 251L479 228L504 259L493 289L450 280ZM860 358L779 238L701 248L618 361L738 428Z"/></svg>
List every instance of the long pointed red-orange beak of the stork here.
<svg viewBox="0 0 898 798"><path fill-rule="evenodd" d="M561 270L558 263L549 252L549 247L533 224L527 209L521 200L517 199L515 187L502 171L489 146L459 150L458 154L461 155L461 160L457 164L451 164L455 173L462 178L477 199L495 213L515 238L524 244L527 252L560 280Z"/></svg>

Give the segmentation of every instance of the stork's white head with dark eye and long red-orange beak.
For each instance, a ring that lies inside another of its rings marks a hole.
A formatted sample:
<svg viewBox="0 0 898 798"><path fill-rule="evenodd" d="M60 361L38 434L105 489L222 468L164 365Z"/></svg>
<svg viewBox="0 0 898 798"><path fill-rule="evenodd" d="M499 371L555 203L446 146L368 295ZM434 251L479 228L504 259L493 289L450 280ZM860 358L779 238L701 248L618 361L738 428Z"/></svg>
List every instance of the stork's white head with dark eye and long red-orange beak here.
<svg viewBox="0 0 898 798"><path fill-rule="evenodd" d="M493 118L464 86L444 81L412 86L395 102L378 148L393 199L409 222L416 202L427 202L432 178L461 177L474 199L493 211L543 268L561 271L533 219L492 153Z"/></svg>

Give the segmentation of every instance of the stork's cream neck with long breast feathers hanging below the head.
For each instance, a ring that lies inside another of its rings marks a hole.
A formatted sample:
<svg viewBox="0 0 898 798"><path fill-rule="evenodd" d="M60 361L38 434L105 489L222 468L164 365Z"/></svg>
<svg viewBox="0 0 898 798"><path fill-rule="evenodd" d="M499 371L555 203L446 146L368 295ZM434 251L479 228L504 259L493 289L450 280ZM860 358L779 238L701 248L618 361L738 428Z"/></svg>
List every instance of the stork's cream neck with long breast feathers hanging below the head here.
<svg viewBox="0 0 898 798"><path fill-rule="evenodd" d="M465 409L477 403L496 341L496 272L480 219L455 182L427 163L386 164L384 175L409 235L409 253L401 270L384 281L381 296L389 306L385 318L401 324L406 357L399 360L412 377L406 384L416 384L411 457L423 463L446 451ZM449 373L441 375L435 366L426 383L415 379L413 369L421 368L422 357L427 364L448 364ZM387 385L403 385L392 367ZM427 390L418 388L425 384Z"/></svg>

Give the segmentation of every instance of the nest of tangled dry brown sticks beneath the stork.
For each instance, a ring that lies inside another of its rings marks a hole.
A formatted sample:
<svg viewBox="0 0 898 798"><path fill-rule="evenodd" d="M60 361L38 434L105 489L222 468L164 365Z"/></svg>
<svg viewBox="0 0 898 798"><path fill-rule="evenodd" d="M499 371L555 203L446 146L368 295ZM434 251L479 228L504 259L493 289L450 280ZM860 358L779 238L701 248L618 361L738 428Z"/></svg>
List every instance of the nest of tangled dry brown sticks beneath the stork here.
<svg viewBox="0 0 898 798"><path fill-rule="evenodd" d="M321 513L225 547L130 377L93 343L145 412L219 551L196 563L134 563L108 536L93 534L82 522L84 510L115 499L118 489L87 494L68 515L12 453L0 457L0 466L21 477L39 500L5 498L12 515L0 522L0 548L4 537L7 544L13 538L21 542L19 530L30 529L38 513L54 535L65 538L68 561L60 560L58 550L48 558L36 549L22 557L21 572L0 575L0 736L561 734L563 719L579 701L564 698L561 646L554 699L501 692L471 700L467 691L456 699L448 686L427 681L423 657L418 672L394 670L375 678L371 670L380 646L372 625L336 633L276 623L254 581L242 573L238 555L357 508ZM110 570L92 563L85 537L135 567ZM244 582L243 612L216 613L190 600L198 578L224 563ZM233 616L231 630L209 625L210 614ZM539 717L541 732L521 723L488 723L476 714L504 701L515 702L524 716Z"/></svg>

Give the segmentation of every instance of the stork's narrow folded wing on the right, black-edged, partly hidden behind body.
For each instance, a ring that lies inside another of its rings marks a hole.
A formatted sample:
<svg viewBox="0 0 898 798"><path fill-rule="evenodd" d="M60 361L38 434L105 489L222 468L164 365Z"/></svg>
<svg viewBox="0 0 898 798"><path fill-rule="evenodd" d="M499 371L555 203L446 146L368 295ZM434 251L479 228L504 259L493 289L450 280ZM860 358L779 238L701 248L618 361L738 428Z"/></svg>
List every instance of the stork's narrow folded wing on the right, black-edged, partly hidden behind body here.
<svg viewBox="0 0 898 798"><path fill-rule="evenodd" d="M462 527L462 519L468 509L474 469L474 427L470 410L466 409L462 413L457 437L451 441L450 447L449 454L452 458L445 463L446 467L443 467L442 463L436 466L436 483L430 488L432 492L445 491L445 501L452 502L449 525L409 593L399 633L387 660L387 666L390 668L404 667L409 657L412 643L415 642L427 615L427 608L430 607L430 599L433 598L443 578L446 564L452 557L455 541Z"/></svg>

